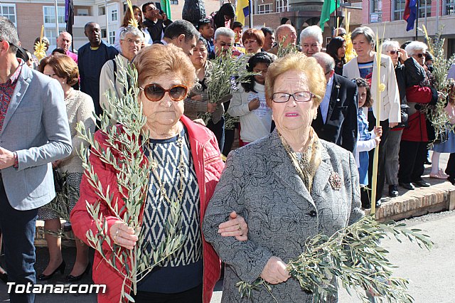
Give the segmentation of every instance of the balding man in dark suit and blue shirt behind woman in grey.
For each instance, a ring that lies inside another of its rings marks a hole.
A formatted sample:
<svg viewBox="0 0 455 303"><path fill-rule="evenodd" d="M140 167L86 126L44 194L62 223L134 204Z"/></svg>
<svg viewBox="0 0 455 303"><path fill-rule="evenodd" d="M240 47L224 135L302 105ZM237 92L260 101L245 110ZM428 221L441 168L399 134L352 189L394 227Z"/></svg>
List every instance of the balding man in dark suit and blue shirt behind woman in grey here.
<svg viewBox="0 0 455 303"><path fill-rule="evenodd" d="M326 53L313 55L321 65L327 79L326 95L318 108L311 126L319 138L333 142L354 152L357 144L357 85L336 75L335 61Z"/></svg>

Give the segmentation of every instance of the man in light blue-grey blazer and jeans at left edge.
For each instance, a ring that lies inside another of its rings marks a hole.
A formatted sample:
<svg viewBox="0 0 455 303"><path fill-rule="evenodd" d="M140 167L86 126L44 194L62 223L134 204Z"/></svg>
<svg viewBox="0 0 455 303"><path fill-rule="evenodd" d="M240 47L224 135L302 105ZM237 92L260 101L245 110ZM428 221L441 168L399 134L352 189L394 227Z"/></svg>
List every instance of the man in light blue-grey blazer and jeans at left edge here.
<svg viewBox="0 0 455 303"><path fill-rule="evenodd" d="M13 303L34 302L16 285L36 283L38 208L55 198L51 162L71 153L63 90L16 58L18 44L16 27L0 16L0 230Z"/></svg>

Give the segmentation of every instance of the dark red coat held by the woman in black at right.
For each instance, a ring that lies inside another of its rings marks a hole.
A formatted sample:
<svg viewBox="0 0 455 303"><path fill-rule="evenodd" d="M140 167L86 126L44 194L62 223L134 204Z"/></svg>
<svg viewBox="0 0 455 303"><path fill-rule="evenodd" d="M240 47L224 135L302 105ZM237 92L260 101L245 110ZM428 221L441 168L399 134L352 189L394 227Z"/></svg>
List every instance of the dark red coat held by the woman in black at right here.
<svg viewBox="0 0 455 303"><path fill-rule="evenodd" d="M427 117L423 112L415 110L414 105L437 102L437 91L430 87L414 85L407 87L406 99L410 105L410 117L407 119L408 126L403 129L401 139L412 142L428 142L429 132L427 129Z"/></svg>

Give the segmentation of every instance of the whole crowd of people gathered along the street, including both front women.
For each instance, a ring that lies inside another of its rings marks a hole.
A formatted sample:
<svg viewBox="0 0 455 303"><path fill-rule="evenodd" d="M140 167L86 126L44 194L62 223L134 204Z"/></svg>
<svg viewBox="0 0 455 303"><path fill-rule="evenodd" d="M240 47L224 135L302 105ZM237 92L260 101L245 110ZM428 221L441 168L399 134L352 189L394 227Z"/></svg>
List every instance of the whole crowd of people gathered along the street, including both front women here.
<svg viewBox="0 0 455 303"><path fill-rule="evenodd" d="M68 211L77 248L65 279L76 282L93 268L94 282L108 286L99 301L119 301L123 277L100 252L93 267L89 262L86 234L97 229L86 203L101 203L112 243L131 250L137 233L114 216L115 206L105 205L84 174L78 153L87 143L76 131L82 123L100 146L109 146L92 112L101 115L114 106L107 92L118 98L127 93L117 77L119 66L137 69L137 102L149 136L141 152L154 163L141 218L146 240L156 246L166 236L170 201L181 204L186 235L181 250L141 280L132 294L137 302L210 302L220 260L225 262L223 302L243 302L235 285L257 277L272 285L280 301L305 302L311 294L289 279L286 262L304 250L307 238L330 236L361 218L361 208L381 206L385 184L390 197L399 195L398 186L429 186L422 175L429 143L436 138L422 105L446 98L446 113L455 124L455 81L446 95L437 91L427 45L387 40L378 56L375 34L365 26L350 33L357 56L349 61L343 28L323 48L319 26L306 27L299 36L291 24L245 29L235 21L231 4L196 24L171 21L152 2L133 6L114 46L102 41L95 22L87 23L84 33L88 42L77 53L70 51L72 36L63 31L57 48L38 61L20 47L14 24L0 17L4 282L36 283L65 272L55 236L60 218L46 207L55 198L54 174L64 173L76 190ZM41 41L50 44L45 37ZM294 51L282 55L283 48ZM252 75L232 94L209 100L211 60L226 54L247 56L245 70ZM455 66L449 71L455 78L452 74ZM381 100L376 100L378 90ZM241 148L231 151L236 131ZM370 201L378 146L376 200ZM434 142L432 150L430 178L454 184L454 132ZM441 153L451 154L445 173ZM121 200L114 167L96 153L90 154L90 164L103 188L109 186L119 198L110 201ZM45 235L49 262L39 275L33 268L37 218L54 232ZM254 302L269 296L265 288L252 292ZM10 297L33 302L34 294Z"/></svg>

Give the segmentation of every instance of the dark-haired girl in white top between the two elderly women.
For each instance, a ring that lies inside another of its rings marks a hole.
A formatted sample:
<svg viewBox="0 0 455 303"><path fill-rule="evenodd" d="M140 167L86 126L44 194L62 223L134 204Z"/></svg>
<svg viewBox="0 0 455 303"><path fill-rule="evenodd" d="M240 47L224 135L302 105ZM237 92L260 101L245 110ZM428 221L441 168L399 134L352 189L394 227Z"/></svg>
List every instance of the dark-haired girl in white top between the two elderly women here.
<svg viewBox="0 0 455 303"><path fill-rule="evenodd" d="M272 109L267 106L264 95L265 73L272 58L265 52L257 53L248 60L247 70L257 73L250 82L232 95L228 113L240 117L240 146L267 136L272 127Z"/></svg>

